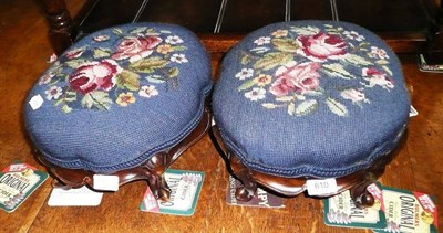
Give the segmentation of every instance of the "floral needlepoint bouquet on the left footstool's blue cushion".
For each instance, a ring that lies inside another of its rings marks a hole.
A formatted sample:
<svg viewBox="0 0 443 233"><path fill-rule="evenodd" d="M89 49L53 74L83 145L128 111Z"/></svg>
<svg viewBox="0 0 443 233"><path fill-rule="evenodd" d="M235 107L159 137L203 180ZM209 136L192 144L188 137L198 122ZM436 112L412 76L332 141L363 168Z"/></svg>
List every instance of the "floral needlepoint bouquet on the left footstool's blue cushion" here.
<svg viewBox="0 0 443 233"><path fill-rule="evenodd" d="M105 45L112 40L112 47ZM47 99L64 113L74 108L109 110L115 104L127 107L161 95L159 85L178 87L179 65L189 62L183 43L167 30L136 28L123 33L116 28L66 51L39 85L47 87Z"/></svg>

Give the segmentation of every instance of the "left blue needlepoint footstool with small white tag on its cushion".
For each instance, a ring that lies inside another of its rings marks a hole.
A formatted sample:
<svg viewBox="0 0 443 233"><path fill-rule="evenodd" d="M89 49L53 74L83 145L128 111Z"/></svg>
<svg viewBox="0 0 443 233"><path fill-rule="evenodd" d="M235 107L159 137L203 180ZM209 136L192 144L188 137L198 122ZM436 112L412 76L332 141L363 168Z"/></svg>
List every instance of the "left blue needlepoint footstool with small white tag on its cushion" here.
<svg viewBox="0 0 443 233"><path fill-rule="evenodd" d="M131 23L92 33L40 77L24 118L38 158L62 183L146 179L167 198L165 169L209 128L212 65L177 25Z"/></svg>

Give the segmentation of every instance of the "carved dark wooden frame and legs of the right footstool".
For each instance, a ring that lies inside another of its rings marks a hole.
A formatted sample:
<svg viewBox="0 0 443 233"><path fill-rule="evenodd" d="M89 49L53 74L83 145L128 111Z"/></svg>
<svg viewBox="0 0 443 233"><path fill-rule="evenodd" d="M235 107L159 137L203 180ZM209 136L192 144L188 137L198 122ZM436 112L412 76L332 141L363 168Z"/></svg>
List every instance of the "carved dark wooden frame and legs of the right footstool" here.
<svg viewBox="0 0 443 233"><path fill-rule="evenodd" d="M307 190L306 181L308 179L315 179L309 177L285 178L251 170L240 161L238 156L226 147L217 126L212 127L210 136L214 145L217 146L217 150L226 162L228 172L241 182L241 186L237 188L235 193L237 200L249 201L257 192L258 187L285 197L296 197ZM403 137L402 140L404 140L404 138L405 137ZM336 193L318 197L327 198L350 190L351 198L357 206L372 206L374 198L367 190L367 187L375 182L384 172L385 166L395 157L396 152L398 151L394 150L390 155L375 160L372 166L367 169L336 178L338 191Z"/></svg>

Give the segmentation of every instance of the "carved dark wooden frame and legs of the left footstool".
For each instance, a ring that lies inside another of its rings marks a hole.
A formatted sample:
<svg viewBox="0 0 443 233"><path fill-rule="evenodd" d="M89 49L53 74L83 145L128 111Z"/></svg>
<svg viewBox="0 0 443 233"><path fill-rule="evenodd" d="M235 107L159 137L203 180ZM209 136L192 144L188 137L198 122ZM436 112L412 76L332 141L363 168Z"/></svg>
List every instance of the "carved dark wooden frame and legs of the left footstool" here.
<svg viewBox="0 0 443 233"><path fill-rule="evenodd" d="M169 199L171 189L168 188L165 179L163 178L166 169L192 145L197 142L208 131L210 126L210 113L205 108L200 121L196 128L189 133L179 144L161 151L151 157L144 163L116 171L114 173L106 173L119 177L119 186L126 184L136 180L147 180L147 183L156 199L167 201ZM84 169L68 169L54 166L47 161L42 155L38 153L37 158L48 168L48 171L56 179L55 186L64 186L69 188L80 188L87 186L94 187L93 171ZM60 182L60 183L58 183Z"/></svg>

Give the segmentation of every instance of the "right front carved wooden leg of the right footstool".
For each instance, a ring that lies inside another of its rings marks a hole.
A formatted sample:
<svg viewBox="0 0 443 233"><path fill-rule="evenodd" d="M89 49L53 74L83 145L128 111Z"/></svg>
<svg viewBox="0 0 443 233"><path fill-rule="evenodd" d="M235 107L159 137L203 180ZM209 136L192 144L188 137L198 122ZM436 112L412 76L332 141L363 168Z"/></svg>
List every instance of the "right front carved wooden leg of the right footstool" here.
<svg viewBox="0 0 443 233"><path fill-rule="evenodd" d="M358 208L369 208L374 204L373 195L367 190L368 186L374 183L377 177L368 172L367 176L350 189L351 198Z"/></svg>

